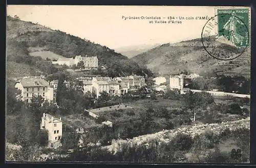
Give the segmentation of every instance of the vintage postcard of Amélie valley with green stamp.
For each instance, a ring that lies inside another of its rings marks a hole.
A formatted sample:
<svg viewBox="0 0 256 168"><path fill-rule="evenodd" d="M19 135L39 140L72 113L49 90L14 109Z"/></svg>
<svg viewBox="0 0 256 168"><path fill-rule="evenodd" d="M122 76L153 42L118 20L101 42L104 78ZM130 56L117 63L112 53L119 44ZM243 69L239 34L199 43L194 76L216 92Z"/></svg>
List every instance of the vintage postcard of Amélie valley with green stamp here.
<svg viewBox="0 0 256 168"><path fill-rule="evenodd" d="M6 20L7 162L250 162L250 7L8 5Z"/></svg>

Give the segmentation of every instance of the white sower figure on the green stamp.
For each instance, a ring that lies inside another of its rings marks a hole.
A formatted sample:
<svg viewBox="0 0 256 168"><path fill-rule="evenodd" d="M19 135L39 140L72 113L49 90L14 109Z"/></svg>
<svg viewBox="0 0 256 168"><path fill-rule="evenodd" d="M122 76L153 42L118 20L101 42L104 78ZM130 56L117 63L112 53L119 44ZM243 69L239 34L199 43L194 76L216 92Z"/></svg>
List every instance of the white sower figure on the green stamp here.
<svg viewBox="0 0 256 168"><path fill-rule="evenodd" d="M235 12L232 12L232 15L230 16L229 20L223 26L223 29L229 31L230 42L232 42L235 45L241 45L242 41L244 40L244 37L237 33L237 23L244 25L244 23L240 21L239 18L243 17L237 16Z"/></svg>

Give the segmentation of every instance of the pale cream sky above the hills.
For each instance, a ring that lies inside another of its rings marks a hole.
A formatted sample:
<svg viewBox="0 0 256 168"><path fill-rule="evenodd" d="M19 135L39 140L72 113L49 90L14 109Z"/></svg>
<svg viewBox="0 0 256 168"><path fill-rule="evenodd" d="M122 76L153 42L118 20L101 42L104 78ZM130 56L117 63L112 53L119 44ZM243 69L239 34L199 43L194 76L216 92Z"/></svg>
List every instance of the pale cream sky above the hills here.
<svg viewBox="0 0 256 168"><path fill-rule="evenodd" d="M60 30L111 49L179 42L200 38L203 20L181 20L181 24L156 24L149 20L124 20L122 16L214 16L215 7L174 6L42 6L8 5L7 15ZM166 17L163 19L163 17ZM153 20L155 21L155 20Z"/></svg>

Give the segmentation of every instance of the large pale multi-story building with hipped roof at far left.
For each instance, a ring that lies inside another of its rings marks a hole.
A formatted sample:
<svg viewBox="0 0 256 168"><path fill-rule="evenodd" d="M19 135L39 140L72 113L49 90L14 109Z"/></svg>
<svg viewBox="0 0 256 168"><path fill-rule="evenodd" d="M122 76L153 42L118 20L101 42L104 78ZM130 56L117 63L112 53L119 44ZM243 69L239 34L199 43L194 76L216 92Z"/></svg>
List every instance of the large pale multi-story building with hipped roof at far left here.
<svg viewBox="0 0 256 168"><path fill-rule="evenodd" d="M31 103L33 96L41 96L45 101L53 102L54 89L47 81L41 78L24 78L16 82L15 88L20 91L20 99Z"/></svg>

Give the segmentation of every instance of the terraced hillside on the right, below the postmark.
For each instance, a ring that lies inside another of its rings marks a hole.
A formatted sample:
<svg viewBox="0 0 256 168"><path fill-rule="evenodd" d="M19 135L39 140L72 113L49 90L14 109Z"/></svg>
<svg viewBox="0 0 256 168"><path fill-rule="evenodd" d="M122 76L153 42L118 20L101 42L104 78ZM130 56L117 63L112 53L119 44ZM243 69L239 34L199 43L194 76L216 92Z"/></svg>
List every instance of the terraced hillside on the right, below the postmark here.
<svg viewBox="0 0 256 168"><path fill-rule="evenodd" d="M214 45L219 46L221 43L215 41ZM184 69L202 75L222 70L250 73L248 51L234 60L217 60L205 52L201 39L162 44L132 59L160 74Z"/></svg>

